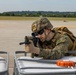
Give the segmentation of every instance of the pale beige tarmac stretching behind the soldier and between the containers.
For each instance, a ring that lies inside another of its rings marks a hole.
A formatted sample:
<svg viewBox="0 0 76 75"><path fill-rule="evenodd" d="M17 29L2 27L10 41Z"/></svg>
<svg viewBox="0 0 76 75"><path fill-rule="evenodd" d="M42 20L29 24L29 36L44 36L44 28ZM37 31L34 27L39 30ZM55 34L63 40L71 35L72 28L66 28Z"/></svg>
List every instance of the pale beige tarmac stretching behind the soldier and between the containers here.
<svg viewBox="0 0 76 75"><path fill-rule="evenodd" d="M0 51L9 52L9 75L13 75L15 51L24 51L24 45L19 45L24 41L25 35L31 35L31 21L0 20ZM66 26L76 36L76 21L51 21L54 27Z"/></svg>

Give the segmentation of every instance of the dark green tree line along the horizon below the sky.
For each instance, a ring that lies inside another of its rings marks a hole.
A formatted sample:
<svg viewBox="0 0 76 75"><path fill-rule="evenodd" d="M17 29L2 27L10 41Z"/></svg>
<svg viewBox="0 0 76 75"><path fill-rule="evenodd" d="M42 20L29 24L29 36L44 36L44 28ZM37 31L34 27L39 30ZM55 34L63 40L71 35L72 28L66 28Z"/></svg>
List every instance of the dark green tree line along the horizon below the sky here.
<svg viewBox="0 0 76 75"><path fill-rule="evenodd" d="M0 13L0 16L22 17L72 17L76 18L76 12L53 12L53 11L12 11Z"/></svg>

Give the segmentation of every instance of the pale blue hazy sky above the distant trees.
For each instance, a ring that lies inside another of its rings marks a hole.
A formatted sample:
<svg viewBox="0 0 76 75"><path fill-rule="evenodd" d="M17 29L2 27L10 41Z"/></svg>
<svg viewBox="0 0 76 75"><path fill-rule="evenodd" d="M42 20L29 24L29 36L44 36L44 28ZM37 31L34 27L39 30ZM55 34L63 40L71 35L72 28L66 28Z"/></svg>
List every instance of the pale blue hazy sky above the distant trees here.
<svg viewBox="0 0 76 75"><path fill-rule="evenodd" d="M0 0L0 13L8 11L76 11L76 0Z"/></svg>

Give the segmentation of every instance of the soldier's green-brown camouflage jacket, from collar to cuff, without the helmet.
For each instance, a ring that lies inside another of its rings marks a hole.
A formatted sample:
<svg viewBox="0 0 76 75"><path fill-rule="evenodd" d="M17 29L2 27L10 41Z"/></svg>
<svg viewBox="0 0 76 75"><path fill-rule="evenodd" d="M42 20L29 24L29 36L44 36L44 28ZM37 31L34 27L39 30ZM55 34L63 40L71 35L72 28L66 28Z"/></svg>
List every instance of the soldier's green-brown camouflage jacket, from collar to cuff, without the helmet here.
<svg viewBox="0 0 76 75"><path fill-rule="evenodd" d="M41 45L41 50L39 56L45 59L59 59L68 52L72 50L73 42L67 35L62 35L61 33L56 33L55 36L49 41L51 43L45 42Z"/></svg>

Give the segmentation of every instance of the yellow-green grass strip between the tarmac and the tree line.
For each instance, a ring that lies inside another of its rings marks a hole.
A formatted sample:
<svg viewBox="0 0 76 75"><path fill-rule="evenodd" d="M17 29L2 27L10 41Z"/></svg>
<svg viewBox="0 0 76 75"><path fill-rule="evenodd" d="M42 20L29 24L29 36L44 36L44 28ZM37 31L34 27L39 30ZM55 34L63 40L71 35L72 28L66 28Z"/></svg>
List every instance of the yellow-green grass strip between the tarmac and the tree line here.
<svg viewBox="0 0 76 75"><path fill-rule="evenodd" d="M14 16L0 16L0 20L37 20L40 17L14 17ZM47 17L49 20L57 21L76 21L76 18L59 18L59 17Z"/></svg>

